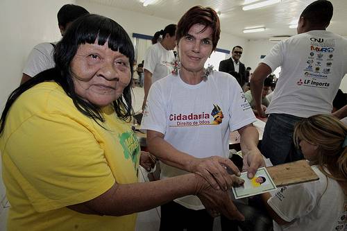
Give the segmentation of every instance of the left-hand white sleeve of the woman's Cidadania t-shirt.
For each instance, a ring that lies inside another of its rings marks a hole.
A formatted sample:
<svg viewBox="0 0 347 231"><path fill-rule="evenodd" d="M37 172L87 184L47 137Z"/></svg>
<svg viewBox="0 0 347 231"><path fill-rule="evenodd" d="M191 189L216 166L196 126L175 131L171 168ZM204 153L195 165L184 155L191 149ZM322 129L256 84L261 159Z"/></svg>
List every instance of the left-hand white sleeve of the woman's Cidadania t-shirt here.
<svg viewBox="0 0 347 231"><path fill-rule="evenodd" d="M142 117L141 128L155 130L165 135L167 128L167 105L165 96L159 88L160 82L155 82L149 89L149 96Z"/></svg>

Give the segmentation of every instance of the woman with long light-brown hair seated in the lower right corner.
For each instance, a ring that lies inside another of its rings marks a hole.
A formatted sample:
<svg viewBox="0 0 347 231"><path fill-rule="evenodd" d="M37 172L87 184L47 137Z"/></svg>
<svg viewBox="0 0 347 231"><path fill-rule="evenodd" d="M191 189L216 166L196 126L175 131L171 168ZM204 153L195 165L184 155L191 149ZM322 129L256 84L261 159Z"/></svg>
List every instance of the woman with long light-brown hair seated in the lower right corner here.
<svg viewBox="0 0 347 231"><path fill-rule="evenodd" d="M347 127L332 115L314 115L296 124L294 143L319 180L262 194L273 230L346 230Z"/></svg>

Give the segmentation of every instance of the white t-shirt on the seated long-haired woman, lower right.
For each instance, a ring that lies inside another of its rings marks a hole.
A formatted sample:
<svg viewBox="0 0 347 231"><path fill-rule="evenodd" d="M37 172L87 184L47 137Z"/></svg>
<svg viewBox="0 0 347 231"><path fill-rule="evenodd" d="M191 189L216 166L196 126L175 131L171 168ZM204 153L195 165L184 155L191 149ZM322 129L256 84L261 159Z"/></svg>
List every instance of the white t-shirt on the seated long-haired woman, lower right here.
<svg viewBox="0 0 347 231"><path fill-rule="evenodd" d="M268 200L276 214L288 225L273 222L273 230L342 231L347 228L347 197L339 183L312 169L319 180L282 187Z"/></svg>

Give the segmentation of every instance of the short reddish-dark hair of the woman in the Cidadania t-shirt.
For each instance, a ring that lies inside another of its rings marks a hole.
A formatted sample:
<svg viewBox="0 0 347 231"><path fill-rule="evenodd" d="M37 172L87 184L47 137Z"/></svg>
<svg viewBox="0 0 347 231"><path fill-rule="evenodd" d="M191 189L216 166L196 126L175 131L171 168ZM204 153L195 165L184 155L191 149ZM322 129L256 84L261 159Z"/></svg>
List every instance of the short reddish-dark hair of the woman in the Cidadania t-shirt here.
<svg viewBox="0 0 347 231"><path fill-rule="evenodd" d="M176 41L188 34L189 29L194 24L202 24L203 31L210 26L212 28L212 51L217 48L219 36L221 35L221 24L217 12L210 7L193 6L180 18L177 24Z"/></svg>

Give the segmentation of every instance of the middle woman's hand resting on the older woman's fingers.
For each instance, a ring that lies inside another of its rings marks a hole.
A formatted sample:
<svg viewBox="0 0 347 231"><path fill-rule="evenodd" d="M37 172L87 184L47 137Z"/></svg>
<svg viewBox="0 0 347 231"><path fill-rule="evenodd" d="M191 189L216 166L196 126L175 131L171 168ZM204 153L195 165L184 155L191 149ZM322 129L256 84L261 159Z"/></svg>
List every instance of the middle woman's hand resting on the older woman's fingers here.
<svg viewBox="0 0 347 231"><path fill-rule="evenodd" d="M232 186L230 174L240 175L239 169L231 160L219 156L194 158L189 163L188 171L203 177L214 189L223 190Z"/></svg>

